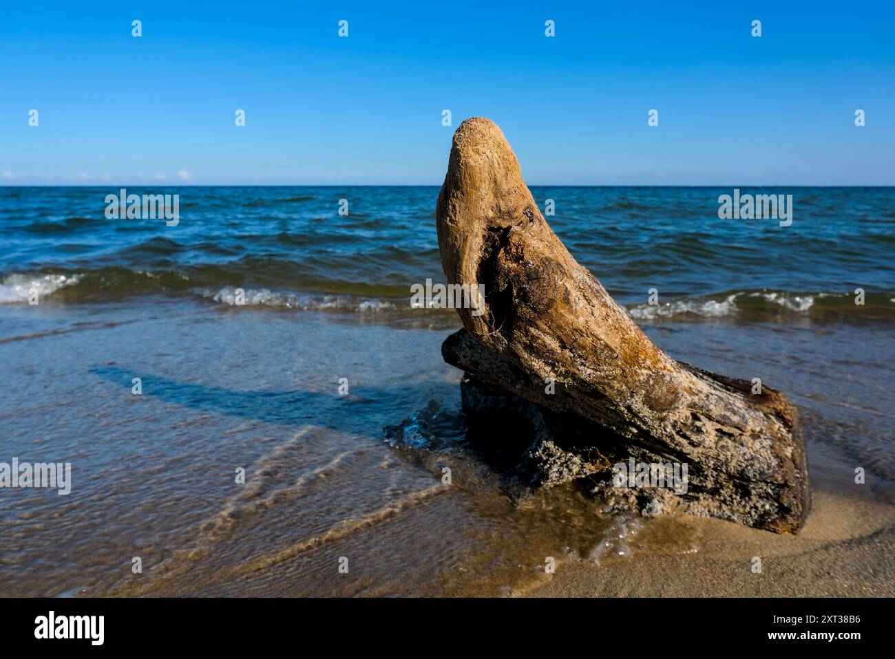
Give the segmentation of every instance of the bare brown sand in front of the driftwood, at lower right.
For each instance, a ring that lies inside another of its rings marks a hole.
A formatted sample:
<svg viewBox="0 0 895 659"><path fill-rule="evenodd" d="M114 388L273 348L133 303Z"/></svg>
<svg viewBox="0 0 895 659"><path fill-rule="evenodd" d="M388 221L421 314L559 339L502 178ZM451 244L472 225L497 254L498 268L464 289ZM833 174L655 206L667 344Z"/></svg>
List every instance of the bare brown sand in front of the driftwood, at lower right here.
<svg viewBox="0 0 895 659"><path fill-rule="evenodd" d="M815 492L797 536L689 516L654 520L652 533L686 541L635 550L602 565L563 562L520 595L534 597L895 596L895 506ZM690 543L699 549L694 551ZM648 537L644 544L649 545ZM762 572L753 572L753 557Z"/></svg>

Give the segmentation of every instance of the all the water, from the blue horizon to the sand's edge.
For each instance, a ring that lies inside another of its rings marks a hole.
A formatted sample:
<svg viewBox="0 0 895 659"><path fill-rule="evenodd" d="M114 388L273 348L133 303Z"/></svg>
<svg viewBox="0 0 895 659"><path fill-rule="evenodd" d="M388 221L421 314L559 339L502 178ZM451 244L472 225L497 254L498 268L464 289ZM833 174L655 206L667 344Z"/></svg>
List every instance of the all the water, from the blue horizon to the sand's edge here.
<svg viewBox="0 0 895 659"><path fill-rule="evenodd" d="M0 461L72 463L72 494L0 492L0 595L499 596L601 561L618 520L520 504L465 441L456 312L410 304L438 190L127 189L178 194L168 226L0 187ZM720 219L732 187L532 192L653 342L797 404L816 488L891 501L895 189L740 189L788 226Z"/></svg>

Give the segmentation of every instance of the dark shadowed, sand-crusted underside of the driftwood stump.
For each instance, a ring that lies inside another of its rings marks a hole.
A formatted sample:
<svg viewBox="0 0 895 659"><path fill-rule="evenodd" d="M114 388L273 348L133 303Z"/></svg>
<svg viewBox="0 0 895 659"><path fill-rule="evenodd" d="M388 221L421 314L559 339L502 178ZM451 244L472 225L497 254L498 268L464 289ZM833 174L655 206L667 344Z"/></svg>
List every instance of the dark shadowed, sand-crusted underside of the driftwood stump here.
<svg viewBox="0 0 895 659"><path fill-rule="evenodd" d="M708 450L702 455L699 451L689 455L661 452L655 446L632 443L574 412L550 410L507 391L514 386L519 391L542 388L542 383L532 382L509 360L484 351L465 330L447 337L442 354L457 368L485 360L486 376L495 377L500 385L465 372L460 392L467 421L476 436L491 436L501 443L506 442L507 432L525 435L528 448L520 455L516 472L530 486L578 481L612 510L647 517L682 511L778 533L796 531L811 509L805 452L795 456L795 484L747 482L725 471L723 456ZM516 444L518 439L514 437ZM671 465L672 474L675 464L686 465L686 491L675 487L670 477L665 486L652 486L653 481L632 486L636 478L619 478L619 469L613 469L621 464L626 472L633 465Z"/></svg>

